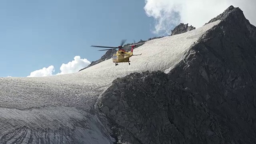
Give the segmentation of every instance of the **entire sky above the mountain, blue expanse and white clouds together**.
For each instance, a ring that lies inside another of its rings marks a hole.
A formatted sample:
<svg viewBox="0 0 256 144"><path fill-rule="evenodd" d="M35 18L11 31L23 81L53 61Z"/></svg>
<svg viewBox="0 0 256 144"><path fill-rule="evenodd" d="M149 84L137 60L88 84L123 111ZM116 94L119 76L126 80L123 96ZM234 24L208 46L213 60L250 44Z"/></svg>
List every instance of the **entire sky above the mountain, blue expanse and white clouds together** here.
<svg viewBox="0 0 256 144"><path fill-rule="evenodd" d="M91 45L198 28L230 5L256 25L255 0L1 0L0 77L77 72L105 54Z"/></svg>

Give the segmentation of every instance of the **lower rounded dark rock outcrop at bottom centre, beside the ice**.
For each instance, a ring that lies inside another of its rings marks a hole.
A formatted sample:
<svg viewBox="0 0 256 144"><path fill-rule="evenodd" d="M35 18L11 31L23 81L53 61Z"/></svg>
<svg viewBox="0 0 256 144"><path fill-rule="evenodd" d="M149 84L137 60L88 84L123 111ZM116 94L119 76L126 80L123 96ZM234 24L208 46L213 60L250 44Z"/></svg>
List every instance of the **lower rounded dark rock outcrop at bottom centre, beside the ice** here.
<svg viewBox="0 0 256 144"><path fill-rule="evenodd" d="M114 80L97 102L119 143L225 144L229 137L214 114L163 72Z"/></svg>

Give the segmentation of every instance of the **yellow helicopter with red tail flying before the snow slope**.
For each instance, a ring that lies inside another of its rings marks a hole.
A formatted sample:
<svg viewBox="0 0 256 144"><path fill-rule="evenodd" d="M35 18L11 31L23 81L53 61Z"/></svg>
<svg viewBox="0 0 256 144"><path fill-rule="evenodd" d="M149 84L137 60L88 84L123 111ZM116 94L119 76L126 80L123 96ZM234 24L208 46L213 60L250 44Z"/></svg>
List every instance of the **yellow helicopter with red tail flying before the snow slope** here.
<svg viewBox="0 0 256 144"><path fill-rule="evenodd" d="M134 40L134 43L130 46L123 46L125 42L126 40L121 40L120 46L117 46L117 47L112 47L112 46L92 46L92 47L110 48L110 49L104 49L104 50L118 49L116 54L113 54L112 61L116 64L116 66L118 66L118 63L121 63L121 62L128 62L130 65L131 61L129 60L129 58L132 56L140 56L141 54L133 54L133 49L136 48L136 45L138 45L138 44L135 44L135 40ZM144 44L144 43L145 42L142 42L139 44ZM130 52L128 52L127 50L124 50L125 48L132 48L132 49ZM98 51L102 51L102 50L98 50Z"/></svg>

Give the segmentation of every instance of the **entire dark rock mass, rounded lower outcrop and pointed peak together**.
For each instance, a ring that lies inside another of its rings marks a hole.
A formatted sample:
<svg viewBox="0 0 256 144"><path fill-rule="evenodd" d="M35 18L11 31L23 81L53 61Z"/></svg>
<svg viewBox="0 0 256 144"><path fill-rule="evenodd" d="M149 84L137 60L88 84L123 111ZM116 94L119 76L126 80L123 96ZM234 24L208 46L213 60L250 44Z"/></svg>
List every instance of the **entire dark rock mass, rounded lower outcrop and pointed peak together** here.
<svg viewBox="0 0 256 144"><path fill-rule="evenodd" d="M117 79L96 103L119 142L256 142L256 27L230 6L168 74Z"/></svg>

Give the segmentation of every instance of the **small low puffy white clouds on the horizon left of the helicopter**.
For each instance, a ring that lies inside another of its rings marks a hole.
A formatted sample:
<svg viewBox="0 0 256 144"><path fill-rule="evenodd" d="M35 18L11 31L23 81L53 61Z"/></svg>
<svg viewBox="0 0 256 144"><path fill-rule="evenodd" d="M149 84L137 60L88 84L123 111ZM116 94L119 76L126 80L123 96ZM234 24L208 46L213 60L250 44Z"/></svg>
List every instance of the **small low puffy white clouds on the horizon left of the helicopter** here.
<svg viewBox="0 0 256 144"><path fill-rule="evenodd" d="M71 62L68 62L67 64L62 64L60 66L60 73L58 74L70 74L70 73L78 72L80 69L85 68L90 63L91 62L89 62L85 58L81 59L80 56L75 56L74 60L72 60ZM55 75L53 74L54 72L55 72L54 66L49 66L48 68L35 70L34 72L31 72L30 75L27 77L53 76Z"/></svg>

